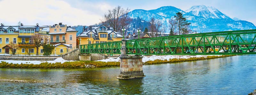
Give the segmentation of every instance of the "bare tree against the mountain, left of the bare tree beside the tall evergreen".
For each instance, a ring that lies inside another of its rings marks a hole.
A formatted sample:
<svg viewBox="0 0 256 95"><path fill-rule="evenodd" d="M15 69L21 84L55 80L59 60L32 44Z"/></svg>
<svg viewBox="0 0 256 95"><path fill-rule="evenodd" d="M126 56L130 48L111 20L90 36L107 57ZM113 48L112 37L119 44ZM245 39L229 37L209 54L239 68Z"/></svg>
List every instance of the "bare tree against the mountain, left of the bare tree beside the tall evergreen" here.
<svg viewBox="0 0 256 95"><path fill-rule="evenodd" d="M158 35L163 36L164 27L162 26L163 23L155 18L151 18L149 21L149 31L151 37L158 37Z"/></svg>

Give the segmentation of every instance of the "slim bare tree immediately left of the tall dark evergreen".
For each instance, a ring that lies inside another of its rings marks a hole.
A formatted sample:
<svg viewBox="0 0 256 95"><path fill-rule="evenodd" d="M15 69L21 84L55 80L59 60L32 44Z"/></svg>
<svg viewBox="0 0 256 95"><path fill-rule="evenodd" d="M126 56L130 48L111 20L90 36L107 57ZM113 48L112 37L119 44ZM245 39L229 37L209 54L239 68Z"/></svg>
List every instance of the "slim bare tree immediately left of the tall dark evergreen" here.
<svg viewBox="0 0 256 95"><path fill-rule="evenodd" d="M171 30L171 33L170 35L177 35L177 27L178 27L178 24L177 24L177 21L175 20L175 18L170 18L169 20L169 24L170 24L170 30Z"/></svg>

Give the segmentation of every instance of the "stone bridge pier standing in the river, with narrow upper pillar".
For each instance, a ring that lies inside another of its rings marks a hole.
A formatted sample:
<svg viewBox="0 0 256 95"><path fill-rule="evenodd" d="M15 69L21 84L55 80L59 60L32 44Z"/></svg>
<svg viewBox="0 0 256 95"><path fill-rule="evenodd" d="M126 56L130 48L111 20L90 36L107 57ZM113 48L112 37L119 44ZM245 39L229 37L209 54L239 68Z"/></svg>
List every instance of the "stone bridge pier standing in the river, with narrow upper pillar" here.
<svg viewBox="0 0 256 95"><path fill-rule="evenodd" d="M122 48L120 58L120 74L117 78L129 79L136 77L145 77L142 69L142 56L128 56L126 54L126 40L122 39Z"/></svg>

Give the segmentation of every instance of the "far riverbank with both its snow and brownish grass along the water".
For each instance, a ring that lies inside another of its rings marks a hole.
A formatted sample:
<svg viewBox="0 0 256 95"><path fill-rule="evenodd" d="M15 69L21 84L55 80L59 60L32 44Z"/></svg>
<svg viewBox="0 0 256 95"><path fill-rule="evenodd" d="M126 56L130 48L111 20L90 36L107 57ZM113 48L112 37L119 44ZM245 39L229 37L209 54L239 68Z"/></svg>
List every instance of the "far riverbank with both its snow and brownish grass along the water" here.
<svg viewBox="0 0 256 95"><path fill-rule="evenodd" d="M150 64L161 64L161 63L176 63L176 62L188 62L188 61L197 61L197 60L206 60L206 59L214 59L221 57L228 57L234 55L196 55L196 56L176 56L176 55L166 55L166 56L144 56L142 61L144 65ZM70 62L42 62L40 64L33 64L32 62L27 63L9 63L9 62L0 62L0 68L94 68L94 67L117 67L120 66L120 59L105 59L99 61L70 61Z"/></svg>

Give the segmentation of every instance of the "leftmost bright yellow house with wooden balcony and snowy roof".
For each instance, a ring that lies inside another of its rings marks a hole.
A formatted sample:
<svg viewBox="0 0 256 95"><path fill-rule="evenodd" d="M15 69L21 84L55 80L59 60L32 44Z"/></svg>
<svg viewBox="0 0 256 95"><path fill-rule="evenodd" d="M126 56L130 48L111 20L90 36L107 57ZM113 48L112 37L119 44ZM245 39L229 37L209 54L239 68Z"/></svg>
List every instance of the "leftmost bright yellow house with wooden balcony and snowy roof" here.
<svg viewBox="0 0 256 95"><path fill-rule="evenodd" d="M35 55L36 48L33 43L32 37L38 34L39 26L0 26L0 53L1 54L22 54L22 55ZM49 38L49 35L40 34ZM19 50L13 50L11 52L10 43L13 42L19 46ZM43 53L42 46L38 49L39 53Z"/></svg>

